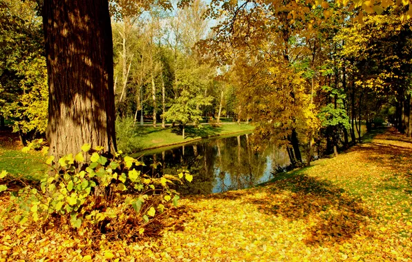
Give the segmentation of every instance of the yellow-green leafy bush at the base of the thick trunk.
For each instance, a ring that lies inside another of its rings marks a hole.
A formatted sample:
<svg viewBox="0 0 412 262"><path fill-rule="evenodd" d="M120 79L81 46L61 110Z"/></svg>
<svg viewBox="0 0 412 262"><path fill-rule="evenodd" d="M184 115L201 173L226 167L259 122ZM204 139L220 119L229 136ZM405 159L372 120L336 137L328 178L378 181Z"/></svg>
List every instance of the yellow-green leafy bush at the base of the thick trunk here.
<svg viewBox="0 0 412 262"><path fill-rule="evenodd" d="M28 185L14 192L4 184L10 178L1 172L0 192L10 190L12 206L19 207L12 219L25 227L37 228L39 222L44 227L71 225L73 232L88 236L140 236L177 205L178 193L169 185L182 183L183 177L191 181L192 177L187 172L148 177L137 170L143 163L121 154L108 156L102 147L91 150L85 144L75 156L68 154L58 161L49 157L46 163L50 173L41 179L38 188Z"/></svg>

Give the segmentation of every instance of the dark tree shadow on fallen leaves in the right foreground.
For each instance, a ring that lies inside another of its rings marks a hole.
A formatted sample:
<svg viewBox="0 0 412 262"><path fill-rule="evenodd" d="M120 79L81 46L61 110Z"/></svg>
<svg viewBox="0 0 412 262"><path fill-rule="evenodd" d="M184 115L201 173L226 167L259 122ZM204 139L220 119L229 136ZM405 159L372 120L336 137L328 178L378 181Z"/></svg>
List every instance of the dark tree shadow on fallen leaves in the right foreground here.
<svg viewBox="0 0 412 262"><path fill-rule="evenodd" d="M347 241L367 225L367 217L374 216L362 200L348 196L329 181L306 174L274 181L268 185L267 193L267 197L252 203L265 214L308 223L303 239L307 245Z"/></svg>

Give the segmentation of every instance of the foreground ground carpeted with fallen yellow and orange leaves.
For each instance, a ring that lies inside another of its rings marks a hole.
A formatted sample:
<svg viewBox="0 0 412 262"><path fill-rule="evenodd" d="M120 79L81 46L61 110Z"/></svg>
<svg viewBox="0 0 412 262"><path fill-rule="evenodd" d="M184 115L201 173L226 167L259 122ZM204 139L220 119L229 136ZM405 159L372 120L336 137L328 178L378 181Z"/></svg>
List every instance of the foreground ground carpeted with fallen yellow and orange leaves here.
<svg viewBox="0 0 412 262"><path fill-rule="evenodd" d="M386 132L261 187L183 199L158 234L140 242L72 239L53 228L19 232L10 222L0 254L10 261L411 261L411 166L412 140Z"/></svg>

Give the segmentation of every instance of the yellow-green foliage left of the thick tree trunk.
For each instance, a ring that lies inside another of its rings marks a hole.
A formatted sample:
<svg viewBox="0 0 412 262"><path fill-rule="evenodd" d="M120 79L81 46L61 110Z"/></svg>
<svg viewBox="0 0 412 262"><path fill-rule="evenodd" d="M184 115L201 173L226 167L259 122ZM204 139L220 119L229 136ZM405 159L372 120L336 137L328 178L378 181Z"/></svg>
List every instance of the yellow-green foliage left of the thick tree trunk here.
<svg viewBox="0 0 412 262"><path fill-rule="evenodd" d="M0 1L0 114L14 131L44 133L47 125L46 59L35 1Z"/></svg>

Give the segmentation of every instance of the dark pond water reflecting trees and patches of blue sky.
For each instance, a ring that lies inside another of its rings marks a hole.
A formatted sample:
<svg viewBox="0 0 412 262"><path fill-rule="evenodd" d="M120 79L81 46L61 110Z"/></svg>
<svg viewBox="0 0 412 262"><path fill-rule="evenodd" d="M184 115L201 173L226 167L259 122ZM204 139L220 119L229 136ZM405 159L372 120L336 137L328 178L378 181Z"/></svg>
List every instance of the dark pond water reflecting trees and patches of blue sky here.
<svg viewBox="0 0 412 262"><path fill-rule="evenodd" d="M248 188L269 181L274 172L290 165L286 150L265 145L256 152L250 143L251 134L207 139L186 145L158 149L140 154L146 166L142 172L160 177L188 170L191 183L180 185L182 194L210 194Z"/></svg>

